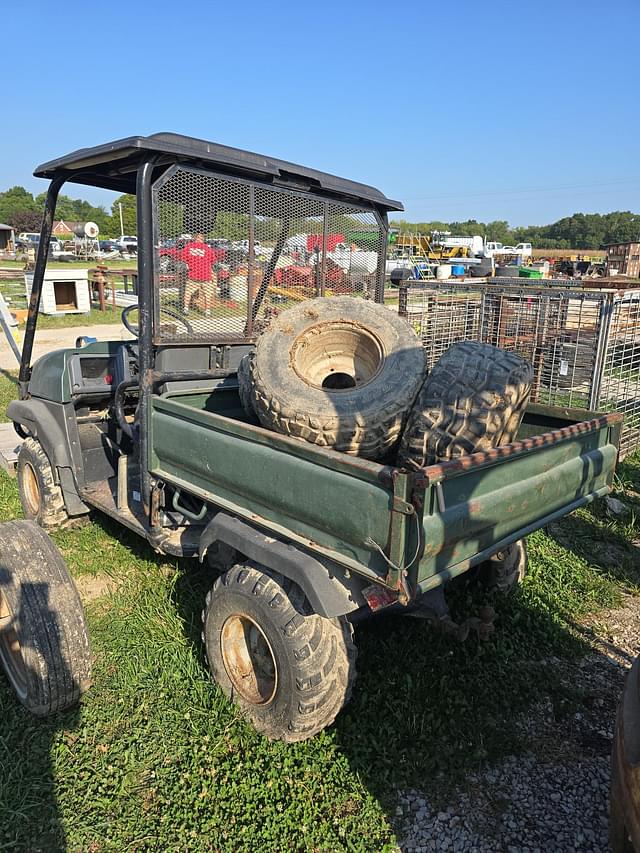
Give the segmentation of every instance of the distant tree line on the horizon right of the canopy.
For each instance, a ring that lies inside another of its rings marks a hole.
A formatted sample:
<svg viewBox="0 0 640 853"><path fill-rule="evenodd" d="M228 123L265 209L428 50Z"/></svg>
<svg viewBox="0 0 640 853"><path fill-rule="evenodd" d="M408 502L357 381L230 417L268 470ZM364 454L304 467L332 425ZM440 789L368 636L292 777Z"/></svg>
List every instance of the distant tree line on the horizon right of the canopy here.
<svg viewBox="0 0 640 853"><path fill-rule="evenodd" d="M529 225L512 228L506 220L478 222L407 222L397 219L391 227L402 232L429 234L450 231L463 237L479 234L505 246L532 243L539 249L600 249L607 243L640 241L640 214L631 211L612 213L574 213L551 225Z"/></svg>

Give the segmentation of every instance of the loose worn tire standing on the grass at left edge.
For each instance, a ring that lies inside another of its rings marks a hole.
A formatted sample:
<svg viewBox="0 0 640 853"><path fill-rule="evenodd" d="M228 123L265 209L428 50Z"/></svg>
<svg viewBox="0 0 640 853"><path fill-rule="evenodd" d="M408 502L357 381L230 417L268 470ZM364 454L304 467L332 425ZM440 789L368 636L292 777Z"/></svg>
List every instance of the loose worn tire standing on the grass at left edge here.
<svg viewBox="0 0 640 853"><path fill-rule="evenodd" d="M39 717L72 707L90 684L80 597L34 521L0 525L0 662L20 702Z"/></svg>

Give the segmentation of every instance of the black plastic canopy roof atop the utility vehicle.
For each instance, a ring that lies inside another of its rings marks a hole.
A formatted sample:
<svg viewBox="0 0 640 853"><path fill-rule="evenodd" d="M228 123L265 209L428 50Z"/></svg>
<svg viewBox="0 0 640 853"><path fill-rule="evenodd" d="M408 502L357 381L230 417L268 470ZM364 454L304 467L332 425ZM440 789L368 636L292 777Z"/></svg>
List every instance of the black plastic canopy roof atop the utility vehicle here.
<svg viewBox="0 0 640 853"><path fill-rule="evenodd" d="M338 178L326 172L297 166L204 139L177 133L154 133L151 136L128 136L93 148L81 148L64 157L38 166L37 178L52 178L68 173L72 183L103 187L122 193L135 193L138 165L154 156L159 171L172 163L185 163L279 186L295 185L310 192L330 195L351 203L366 202L381 210L403 210L398 201L386 198L375 187Z"/></svg>

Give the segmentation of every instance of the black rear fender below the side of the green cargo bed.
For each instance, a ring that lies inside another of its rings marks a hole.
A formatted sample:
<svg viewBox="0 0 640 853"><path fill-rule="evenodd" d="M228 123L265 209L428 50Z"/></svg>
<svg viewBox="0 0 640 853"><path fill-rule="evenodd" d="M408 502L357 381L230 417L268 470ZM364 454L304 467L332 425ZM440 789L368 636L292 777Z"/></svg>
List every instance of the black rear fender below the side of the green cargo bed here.
<svg viewBox="0 0 640 853"><path fill-rule="evenodd" d="M366 578L275 539L240 518L219 512L211 519L200 537L200 562L214 542L224 542L292 580L320 616L343 616L366 604L362 595L362 589L370 585Z"/></svg>

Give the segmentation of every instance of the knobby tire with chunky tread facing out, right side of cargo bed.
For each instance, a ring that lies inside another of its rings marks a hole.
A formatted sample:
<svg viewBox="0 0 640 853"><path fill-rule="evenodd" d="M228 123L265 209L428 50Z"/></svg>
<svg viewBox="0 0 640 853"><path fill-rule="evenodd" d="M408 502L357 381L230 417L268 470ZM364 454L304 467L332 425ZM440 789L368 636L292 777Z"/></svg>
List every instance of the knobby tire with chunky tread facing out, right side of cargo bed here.
<svg viewBox="0 0 640 853"><path fill-rule="evenodd" d="M533 370L489 344L453 344L424 380L404 429L398 463L432 465L515 440Z"/></svg>

